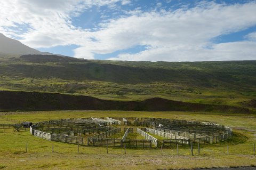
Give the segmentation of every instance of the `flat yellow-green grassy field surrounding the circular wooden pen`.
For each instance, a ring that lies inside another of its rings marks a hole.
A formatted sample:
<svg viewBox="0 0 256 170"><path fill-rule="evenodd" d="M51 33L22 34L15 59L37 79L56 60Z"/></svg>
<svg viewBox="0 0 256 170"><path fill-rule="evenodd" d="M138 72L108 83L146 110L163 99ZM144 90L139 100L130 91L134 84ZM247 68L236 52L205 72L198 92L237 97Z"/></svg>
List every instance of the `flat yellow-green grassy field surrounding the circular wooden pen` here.
<svg viewBox="0 0 256 170"><path fill-rule="evenodd" d="M195 167L256 166L253 143L256 143L256 117L250 115L199 114L196 112L138 112L138 111L42 111L8 112L1 123L12 120L42 120L77 117L158 117L210 121L234 129L231 140L202 145L194 156L189 147L163 149L126 149L80 146L40 139L26 132L0 130L0 169L173 169ZM26 153L26 142L28 152ZM52 153L54 144L54 153ZM227 154L227 144L229 154Z"/></svg>

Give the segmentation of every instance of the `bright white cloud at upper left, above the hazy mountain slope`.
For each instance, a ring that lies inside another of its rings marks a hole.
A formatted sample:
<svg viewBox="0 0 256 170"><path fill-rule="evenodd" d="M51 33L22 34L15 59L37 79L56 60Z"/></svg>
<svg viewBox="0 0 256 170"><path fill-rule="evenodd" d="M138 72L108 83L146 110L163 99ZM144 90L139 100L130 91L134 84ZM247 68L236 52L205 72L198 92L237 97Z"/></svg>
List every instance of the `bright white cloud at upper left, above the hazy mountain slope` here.
<svg viewBox="0 0 256 170"><path fill-rule="evenodd" d="M20 37L31 47L52 47L86 41L91 33L72 25L71 17L93 5L113 5L119 0L26 0L0 1L0 31L9 37ZM15 28L29 26L26 33Z"/></svg>

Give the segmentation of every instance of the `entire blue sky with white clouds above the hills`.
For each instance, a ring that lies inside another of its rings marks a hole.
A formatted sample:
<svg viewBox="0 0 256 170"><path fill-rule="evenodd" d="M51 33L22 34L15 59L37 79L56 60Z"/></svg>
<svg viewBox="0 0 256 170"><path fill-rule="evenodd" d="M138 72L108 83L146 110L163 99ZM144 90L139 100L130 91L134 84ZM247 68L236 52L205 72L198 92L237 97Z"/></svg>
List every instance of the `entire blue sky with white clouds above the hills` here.
<svg viewBox="0 0 256 170"><path fill-rule="evenodd" d="M0 33L83 59L256 60L256 1L1 0Z"/></svg>

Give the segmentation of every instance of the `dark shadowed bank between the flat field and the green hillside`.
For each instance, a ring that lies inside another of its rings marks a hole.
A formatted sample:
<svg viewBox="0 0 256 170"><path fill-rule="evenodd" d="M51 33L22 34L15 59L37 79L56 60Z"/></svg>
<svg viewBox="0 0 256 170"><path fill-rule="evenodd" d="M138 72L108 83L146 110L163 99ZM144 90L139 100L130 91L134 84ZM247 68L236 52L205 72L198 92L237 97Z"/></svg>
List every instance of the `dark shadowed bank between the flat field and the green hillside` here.
<svg viewBox="0 0 256 170"><path fill-rule="evenodd" d="M143 101L102 100L91 96L58 93L0 91L0 111L41 110L133 110L203 111L223 114L251 114L249 109L218 104L199 104L152 98Z"/></svg>

